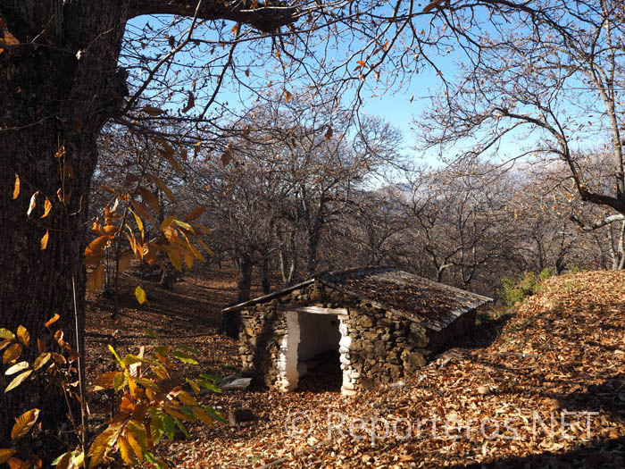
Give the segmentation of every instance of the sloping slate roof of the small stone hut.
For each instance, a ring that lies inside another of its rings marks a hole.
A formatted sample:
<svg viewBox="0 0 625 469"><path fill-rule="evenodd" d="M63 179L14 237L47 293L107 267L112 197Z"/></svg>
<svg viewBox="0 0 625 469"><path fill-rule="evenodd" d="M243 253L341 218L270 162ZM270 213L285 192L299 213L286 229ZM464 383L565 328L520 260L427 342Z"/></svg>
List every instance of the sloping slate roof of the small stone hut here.
<svg viewBox="0 0 625 469"><path fill-rule="evenodd" d="M493 301L489 297L402 272L396 267L364 267L340 272L323 272L308 281L230 306L223 311L234 311L262 303L314 281L413 322L420 322L434 331L441 331L461 314Z"/></svg>

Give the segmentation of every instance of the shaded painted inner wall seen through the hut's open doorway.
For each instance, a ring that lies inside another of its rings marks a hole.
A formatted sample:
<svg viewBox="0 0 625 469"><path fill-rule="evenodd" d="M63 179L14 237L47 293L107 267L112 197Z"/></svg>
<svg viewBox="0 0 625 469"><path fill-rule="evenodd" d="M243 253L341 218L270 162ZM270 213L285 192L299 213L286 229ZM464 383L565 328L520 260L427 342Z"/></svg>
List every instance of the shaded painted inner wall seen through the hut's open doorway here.
<svg viewBox="0 0 625 469"><path fill-rule="evenodd" d="M341 334L336 314L298 313L298 316L300 360L307 360L326 350L338 350Z"/></svg>

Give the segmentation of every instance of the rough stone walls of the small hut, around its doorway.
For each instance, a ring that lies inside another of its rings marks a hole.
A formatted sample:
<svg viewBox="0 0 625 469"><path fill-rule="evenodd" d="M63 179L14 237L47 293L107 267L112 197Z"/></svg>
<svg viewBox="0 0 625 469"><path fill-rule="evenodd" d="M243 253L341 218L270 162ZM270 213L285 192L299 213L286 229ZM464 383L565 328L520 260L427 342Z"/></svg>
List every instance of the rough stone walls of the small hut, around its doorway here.
<svg viewBox="0 0 625 469"><path fill-rule="evenodd" d="M462 314L443 331L431 331L418 322L371 306L319 282L296 289L241 312L240 354L243 368L257 381L278 389L292 389L285 381L287 320L282 305L346 308L339 314L339 348L345 394L397 381L411 375L453 340L472 331L475 311ZM450 343L451 342L451 343ZM293 353L291 351L291 353Z"/></svg>

